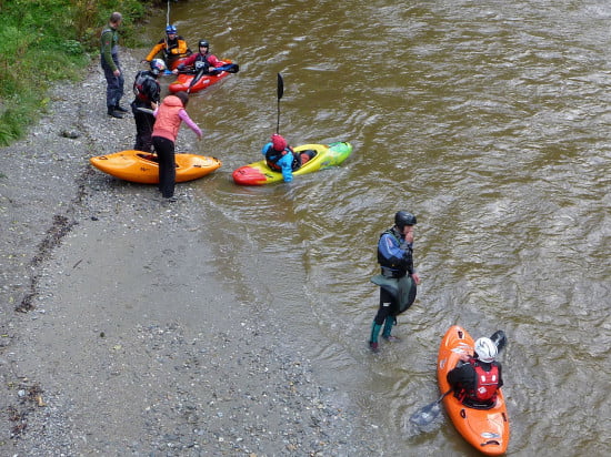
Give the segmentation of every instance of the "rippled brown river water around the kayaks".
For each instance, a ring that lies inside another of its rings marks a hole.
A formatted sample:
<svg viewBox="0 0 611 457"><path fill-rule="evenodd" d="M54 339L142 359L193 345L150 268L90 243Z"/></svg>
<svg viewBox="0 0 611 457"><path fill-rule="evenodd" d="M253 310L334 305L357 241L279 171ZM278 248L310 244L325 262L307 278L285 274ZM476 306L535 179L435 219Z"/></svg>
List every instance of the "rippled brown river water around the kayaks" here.
<svg viewBox="0 0 611 457"><path fill-rule="evenodd" d="M509 455L611 453L609 2L180 1L169 18L240 64L189 104L201 152L223 161L188 184L218 276L361 412L361 435L385 434L387 455L475 455L444 417L408 422L439 396L437 351L459 324L508 335ZM237 186L276 131L278 72L280 133L353 155ZM418 216L422 284L402 343L373 356L369 278L398 210Z"/></svg>

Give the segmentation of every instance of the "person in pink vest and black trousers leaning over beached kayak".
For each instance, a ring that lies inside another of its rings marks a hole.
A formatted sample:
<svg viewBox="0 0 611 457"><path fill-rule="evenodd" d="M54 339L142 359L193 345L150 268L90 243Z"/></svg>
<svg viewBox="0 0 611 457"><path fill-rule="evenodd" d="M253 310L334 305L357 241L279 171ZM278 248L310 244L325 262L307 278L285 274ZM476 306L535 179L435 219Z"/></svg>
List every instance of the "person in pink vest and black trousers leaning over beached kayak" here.
<svg viewBox="0 0 611 457"><path fill-rule="evenodd" d="M177 141L180 124L184 122L201 140L201 129L196 124L184 110L189 102L187 92L178 92L168 95L154 110L156 116L152 131L152 143L159 158L159 190L164 199L176 201L176 161L174 143Z"/></svg>

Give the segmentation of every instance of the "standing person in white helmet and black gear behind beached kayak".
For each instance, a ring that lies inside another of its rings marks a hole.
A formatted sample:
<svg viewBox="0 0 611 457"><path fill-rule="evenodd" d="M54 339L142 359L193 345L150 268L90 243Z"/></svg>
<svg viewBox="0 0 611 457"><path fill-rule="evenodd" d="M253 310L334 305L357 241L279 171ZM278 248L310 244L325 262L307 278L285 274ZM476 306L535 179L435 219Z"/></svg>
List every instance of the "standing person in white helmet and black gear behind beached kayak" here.
<svg viewBox="0 0 611 457"><path fill-rule="evenodd" d="M166 63L161 59L153 59L149 71L139 71L133 81L133 94L136 98L131 102L131 112L136 122L136 144L137 151L152 152L152 128L154 115L146 110L154 110L159 104L161 87L157 81L159 73L166 70Z"/></svg>

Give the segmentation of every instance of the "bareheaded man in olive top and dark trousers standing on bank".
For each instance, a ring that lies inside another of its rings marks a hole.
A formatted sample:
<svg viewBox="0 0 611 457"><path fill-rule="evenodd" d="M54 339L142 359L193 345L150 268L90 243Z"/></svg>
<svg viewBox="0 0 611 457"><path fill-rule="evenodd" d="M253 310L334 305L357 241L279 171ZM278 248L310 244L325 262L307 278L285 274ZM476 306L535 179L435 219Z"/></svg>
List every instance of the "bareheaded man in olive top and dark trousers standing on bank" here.
<svg viewBox="0 0 611 457"><path fill-rule="evenodd" d="M107 81L106 102L108 115L117 119L122 119L121 112L127 113L128 110L119 104L123 97L123 73L119 64L119 26L123 21L120 12L110 14L110 20L102 35L100 37L100 63L104 71Z"/></svg>

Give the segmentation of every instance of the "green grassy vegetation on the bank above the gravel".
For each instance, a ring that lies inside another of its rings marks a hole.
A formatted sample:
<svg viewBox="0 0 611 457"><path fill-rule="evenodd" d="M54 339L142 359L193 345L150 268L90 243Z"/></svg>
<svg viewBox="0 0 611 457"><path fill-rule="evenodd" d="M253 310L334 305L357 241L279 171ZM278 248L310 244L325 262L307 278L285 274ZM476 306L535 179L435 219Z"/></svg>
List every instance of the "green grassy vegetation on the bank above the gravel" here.
<svg viewBox="0 0 611 457"><path fill-rule="evenodd" d="M121 44L130 47L140 44L134 24L153 3L0 0L0 145L21 138L38 119L49 103L50 82L81 78L112 11L123 14Z"/></svg>

